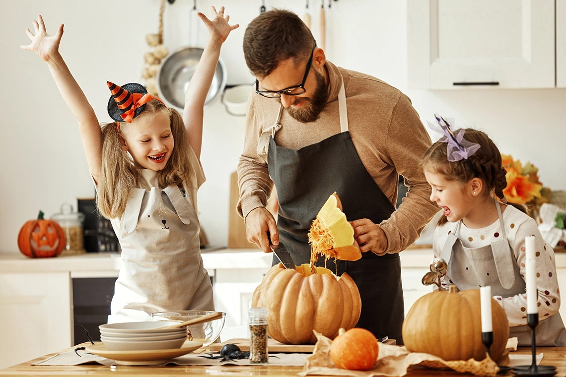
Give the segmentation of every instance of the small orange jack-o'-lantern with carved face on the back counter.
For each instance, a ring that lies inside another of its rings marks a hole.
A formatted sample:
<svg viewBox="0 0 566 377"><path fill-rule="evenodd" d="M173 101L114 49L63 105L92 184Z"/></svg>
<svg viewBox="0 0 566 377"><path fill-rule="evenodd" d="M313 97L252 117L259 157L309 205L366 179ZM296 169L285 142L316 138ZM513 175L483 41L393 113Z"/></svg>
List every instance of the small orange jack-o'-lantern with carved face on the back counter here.
<svg viewBox="0 0 566 377"><path fill-rule="evenodd" d="M29 220L18 235L20 252L30 258L57 257L65 247L65 233L53 220L45 220L39 211L37 220Z"/></svg>

